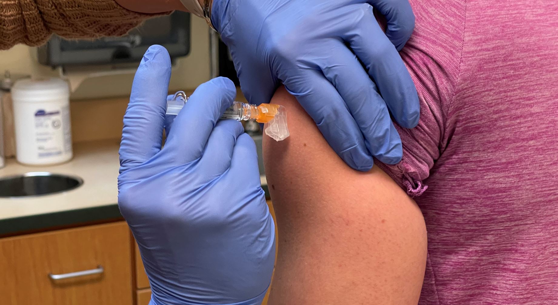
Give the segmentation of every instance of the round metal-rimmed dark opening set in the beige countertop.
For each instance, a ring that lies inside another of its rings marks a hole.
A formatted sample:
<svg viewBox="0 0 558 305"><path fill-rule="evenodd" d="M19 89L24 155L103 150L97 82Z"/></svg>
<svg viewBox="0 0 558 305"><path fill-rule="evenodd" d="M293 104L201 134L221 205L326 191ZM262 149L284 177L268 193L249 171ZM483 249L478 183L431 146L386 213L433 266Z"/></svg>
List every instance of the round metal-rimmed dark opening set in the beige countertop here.
<svg viewBox="0 0 558 305"><path fill-rule="evenodd" d="M0 178L0 198L50 195L73 190L83 184L79 177L49 172L30 172Z"/></svg>

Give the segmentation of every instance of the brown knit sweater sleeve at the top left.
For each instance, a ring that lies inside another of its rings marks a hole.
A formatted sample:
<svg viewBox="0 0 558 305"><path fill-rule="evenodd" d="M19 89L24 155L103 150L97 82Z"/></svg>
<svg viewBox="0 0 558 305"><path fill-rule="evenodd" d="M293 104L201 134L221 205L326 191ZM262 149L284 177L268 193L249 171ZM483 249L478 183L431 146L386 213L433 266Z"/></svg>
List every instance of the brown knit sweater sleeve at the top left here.
<svg viewBox="0 0 558 305"><path fill-rule="evenodd" d="M0 0L0 50L17 43L38 46L52 33L66 38L122 36L160 15L128 11L114 0Z"/></svg>

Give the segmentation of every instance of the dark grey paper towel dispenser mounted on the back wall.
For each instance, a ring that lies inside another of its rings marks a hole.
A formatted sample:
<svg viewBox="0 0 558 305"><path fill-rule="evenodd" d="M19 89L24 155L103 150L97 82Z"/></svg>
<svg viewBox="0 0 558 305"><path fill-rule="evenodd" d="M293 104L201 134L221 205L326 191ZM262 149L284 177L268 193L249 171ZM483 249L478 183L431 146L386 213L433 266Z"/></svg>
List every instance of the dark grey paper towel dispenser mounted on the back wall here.
<svg viewBox="0 0 558 305"><path fill-rule="evenodd" d="M162 45L171 59L190 52L190 13L152 18L122 37L65 40L53 36L39 47L39 62L52 67L139 62L151 45Z"/></svg>

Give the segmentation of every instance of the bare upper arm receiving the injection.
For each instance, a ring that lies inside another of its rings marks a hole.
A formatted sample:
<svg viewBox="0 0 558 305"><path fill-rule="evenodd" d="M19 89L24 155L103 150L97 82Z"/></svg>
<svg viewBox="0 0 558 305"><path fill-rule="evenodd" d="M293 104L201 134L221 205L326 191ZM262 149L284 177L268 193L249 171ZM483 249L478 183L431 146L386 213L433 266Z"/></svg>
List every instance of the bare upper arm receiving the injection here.
<svg viewBox="0 0 558 305"><path fill-rule="evenodd" d="M382 170L349 168L284 88L290 137L264 137L279 234L270 305L416 304L426 228L415 202Z"/></svg>

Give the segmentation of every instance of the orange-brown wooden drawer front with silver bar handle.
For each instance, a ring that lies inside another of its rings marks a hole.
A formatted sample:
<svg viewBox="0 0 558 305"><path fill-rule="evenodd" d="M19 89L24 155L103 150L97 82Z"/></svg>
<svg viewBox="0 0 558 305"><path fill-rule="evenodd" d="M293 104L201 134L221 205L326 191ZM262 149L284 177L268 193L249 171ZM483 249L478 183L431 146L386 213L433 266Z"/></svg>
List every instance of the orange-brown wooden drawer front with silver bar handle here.
<svg viewBox="0 0 558 305"><path fill-rule="evenodd" d="M2 303L132 304L130 250L124 221L0 239Z"/></svg>

